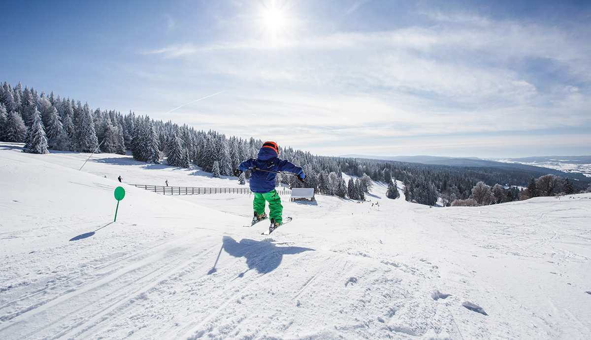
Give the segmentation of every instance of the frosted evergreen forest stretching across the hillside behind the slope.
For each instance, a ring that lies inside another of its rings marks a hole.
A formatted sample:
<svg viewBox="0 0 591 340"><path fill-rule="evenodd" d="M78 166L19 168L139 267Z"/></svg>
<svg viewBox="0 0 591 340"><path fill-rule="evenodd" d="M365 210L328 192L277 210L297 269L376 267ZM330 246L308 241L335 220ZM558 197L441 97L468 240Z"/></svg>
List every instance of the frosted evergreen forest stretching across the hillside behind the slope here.
<svg viewBox="0 0 591 340"><path fill-rule="evenodd" d="M91 110L79 100L56 97L53 92L38 94L32 87L23 89L20 83L12 87L7 82L0 86L0 140L25 143L23 151L41 154L48 149L116 154L130 151L134 159L147 163L160 164L166 159L169 166L186 168L192 163L213 177L233 176L233 169L243 160L256 157L262 147L262 141L252 137L228 138L216 131L155 121L131 111L123 115L114 110ZM313 156L291 147L280 147L279 151L282 159L303 167L306 179L300 183L295 176L278 174L278 186L309 187L316 193L355 200L365 199L374 181L388 184L387 197L396 199L400 197L397 179L404 183L409 202L434 205L441 199L446 206L469 199L478 204L509 202L539 196L540 192L557 193L559 187L573 186L577 192L582 185L558 180L560 183L550 190L542 176L535 180L535 190L528 186L524 193L517 186L527 185L532 177L528 171ZM343 173L349 175L348 180ZM239 181L245 183L248 177L246 171ZM482 190L485 193L480 197Z"/></svg>

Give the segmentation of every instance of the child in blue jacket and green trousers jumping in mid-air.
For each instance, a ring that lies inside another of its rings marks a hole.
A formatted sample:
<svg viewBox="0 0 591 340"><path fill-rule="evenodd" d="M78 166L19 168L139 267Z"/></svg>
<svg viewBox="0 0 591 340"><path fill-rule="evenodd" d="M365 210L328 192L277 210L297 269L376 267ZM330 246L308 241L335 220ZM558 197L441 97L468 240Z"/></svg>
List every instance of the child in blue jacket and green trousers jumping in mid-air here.
<svg viewBox="0 0 591 340"><path fill-rule="evenodd" d="M262 144L256 159L245 160L238 166L238 169L234 170L236 176L239 176L242 171L252 171L250 187L251 191L255 193L252 202L255 210L252 222L256 223L259 220L267 218L267 214L265 214L265 201L269 202L269 217L271 217L269 231L281 225L283 221L281 217L283 206L281 205L279 194L275 191L275 173L261 170L288 171L297 174L301 180L306 178L301 167L295 166L287 160L281 160L277 156L279 156L277 143L266 141L265 144Z"/></svg>

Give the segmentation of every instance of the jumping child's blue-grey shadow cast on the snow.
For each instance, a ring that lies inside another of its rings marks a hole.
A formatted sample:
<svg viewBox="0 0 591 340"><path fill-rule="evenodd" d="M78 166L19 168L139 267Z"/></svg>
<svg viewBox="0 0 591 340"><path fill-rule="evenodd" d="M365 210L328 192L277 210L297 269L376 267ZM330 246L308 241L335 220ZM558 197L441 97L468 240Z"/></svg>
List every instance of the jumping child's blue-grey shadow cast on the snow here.
<svg viewBox="0 0 591 340"><path fill-rule="evenodd" d="M240 242L236 242L236 240L229 236L223 237L222 248L235 258L246 258L248 269L256 269L261 274L266 274L277 269L281 264L283 255L294 255L308 250L314 250L304 247L278 247L270 242L249 239L242 239Z"/></svg>

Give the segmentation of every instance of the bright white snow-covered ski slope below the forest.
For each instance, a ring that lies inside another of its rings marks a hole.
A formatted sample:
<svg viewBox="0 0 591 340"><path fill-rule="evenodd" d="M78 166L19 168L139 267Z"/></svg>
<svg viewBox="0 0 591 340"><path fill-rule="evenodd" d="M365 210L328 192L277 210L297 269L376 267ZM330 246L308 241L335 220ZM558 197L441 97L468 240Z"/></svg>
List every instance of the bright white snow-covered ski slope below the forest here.
<svg viewBox="0 0 591 340"><path fill-rule="evenodd" d="M294 220L263 236L248 194L126 184L235 177L21 146L0 144L0 339L591 338L591 194L430 208L376 183L282 196Z"/></svg>

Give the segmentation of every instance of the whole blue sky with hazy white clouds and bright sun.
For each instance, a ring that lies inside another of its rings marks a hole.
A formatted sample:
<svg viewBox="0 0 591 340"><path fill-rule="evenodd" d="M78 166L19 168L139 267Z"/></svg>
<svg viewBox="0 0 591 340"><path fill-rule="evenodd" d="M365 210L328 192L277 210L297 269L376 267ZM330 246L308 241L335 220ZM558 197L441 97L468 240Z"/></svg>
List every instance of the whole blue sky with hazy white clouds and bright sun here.
<svg viewBox="0 0 591 340"><path fill-rule="evenodd" d="M0 13L0 81L93 108L325 156L591 154L588 2L4 1Z"/></svg>

